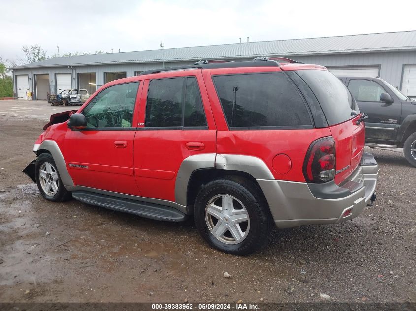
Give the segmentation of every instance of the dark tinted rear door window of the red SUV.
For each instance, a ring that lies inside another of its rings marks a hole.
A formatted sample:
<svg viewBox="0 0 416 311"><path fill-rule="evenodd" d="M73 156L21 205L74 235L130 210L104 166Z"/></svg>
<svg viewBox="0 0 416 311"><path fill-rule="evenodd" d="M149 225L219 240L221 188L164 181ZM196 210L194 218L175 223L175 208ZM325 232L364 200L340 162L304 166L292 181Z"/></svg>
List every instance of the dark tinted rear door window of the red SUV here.
<svg viewBox="0 0 416 311"><path fill-rule="evenodd" d="M151 80L145 127L206 127L202 98L195 77Z"/></svg>

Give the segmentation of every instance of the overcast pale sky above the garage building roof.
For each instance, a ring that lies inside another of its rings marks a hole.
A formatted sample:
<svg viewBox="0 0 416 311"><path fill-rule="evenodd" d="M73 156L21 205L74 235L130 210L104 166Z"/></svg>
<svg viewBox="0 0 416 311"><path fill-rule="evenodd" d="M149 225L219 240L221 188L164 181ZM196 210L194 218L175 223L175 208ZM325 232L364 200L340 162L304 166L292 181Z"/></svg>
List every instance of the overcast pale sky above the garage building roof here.
<svg viewBox="0 0 416 311"><path fill-rule="evenodd" d="M285 5L285 3L287 3ZM416 1L0 0L0 57L416 30Z"/></svg>

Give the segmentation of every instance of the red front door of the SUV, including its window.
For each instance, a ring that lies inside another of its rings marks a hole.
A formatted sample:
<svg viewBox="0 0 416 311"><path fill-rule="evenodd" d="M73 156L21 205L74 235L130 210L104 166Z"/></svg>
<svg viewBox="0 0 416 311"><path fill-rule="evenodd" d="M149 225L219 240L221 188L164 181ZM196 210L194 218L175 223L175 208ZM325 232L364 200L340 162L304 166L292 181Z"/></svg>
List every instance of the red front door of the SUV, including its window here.
<svg viewBox="0 0 416 311"><path fill-rule="evenodd" d="M68 129L64 158L76 186L139 195L133 174L133 144L139 82L112 85L82 110L87 128Z"/></svg>

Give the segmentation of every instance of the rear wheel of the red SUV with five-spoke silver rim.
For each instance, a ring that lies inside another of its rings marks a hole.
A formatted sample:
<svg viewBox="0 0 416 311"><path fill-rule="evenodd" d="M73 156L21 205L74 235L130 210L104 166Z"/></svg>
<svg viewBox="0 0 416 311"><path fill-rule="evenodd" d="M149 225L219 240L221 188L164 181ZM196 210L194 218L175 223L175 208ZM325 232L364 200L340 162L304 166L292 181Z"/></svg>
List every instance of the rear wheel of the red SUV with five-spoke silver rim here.
<svg viewBox="0 0 416 311"><path fill-rule="evenodd" d="M260 190L232 176L202 187L195 201L195 224L214 248L235 255L256 251L267 240L272 216Z"/></svg>

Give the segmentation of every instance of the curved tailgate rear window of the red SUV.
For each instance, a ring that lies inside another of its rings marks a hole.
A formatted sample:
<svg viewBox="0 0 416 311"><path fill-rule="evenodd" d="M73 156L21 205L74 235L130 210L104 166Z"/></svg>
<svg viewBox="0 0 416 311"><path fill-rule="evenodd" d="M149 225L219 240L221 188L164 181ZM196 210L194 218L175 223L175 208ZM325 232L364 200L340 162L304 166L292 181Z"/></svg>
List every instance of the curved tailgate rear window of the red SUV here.
<svg viewBox="0 0 416 311"><path fill-rule="evenodd" d="M329 125L342 123L352 118L351 112L359 108L347 87L326 70L295 71L312 89L317 97Z"/></svg>

